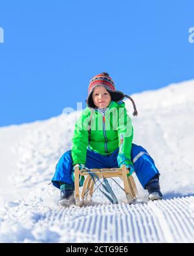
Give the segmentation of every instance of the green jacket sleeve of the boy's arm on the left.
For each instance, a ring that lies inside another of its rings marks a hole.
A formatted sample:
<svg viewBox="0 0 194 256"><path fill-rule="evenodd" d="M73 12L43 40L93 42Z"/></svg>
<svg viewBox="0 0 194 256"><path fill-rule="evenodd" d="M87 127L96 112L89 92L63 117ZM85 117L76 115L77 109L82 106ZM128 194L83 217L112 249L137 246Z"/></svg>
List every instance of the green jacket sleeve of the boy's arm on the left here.
<svg viewBox="0 0 194 256"><path fill-rule="evenodd" d="M75 124L74 135L72 137L72 165L82 163L85 165L87 146L89 141L89 117L84 112Z"/></svg>

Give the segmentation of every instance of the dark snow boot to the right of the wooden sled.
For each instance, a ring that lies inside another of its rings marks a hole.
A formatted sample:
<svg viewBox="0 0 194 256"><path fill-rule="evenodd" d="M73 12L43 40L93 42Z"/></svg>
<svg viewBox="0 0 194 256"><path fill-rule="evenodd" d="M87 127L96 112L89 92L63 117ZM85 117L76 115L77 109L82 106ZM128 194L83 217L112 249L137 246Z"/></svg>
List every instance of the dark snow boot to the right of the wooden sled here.
<svg viewBox="0 0 194 256"><path fill-rule="evenodd" d="M146 185L148 198L151 201L161 200L163 198L162 192L160 191L160 183L158 174L154 176Z"/></svg>

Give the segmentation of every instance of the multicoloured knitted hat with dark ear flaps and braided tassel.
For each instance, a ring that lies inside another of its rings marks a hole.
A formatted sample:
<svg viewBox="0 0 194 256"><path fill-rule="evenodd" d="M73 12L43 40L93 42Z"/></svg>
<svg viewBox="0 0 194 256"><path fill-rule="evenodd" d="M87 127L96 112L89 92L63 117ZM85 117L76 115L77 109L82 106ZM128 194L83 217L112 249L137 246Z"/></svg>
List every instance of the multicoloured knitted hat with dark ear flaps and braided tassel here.
<svg viewBox="0 0 194 256"><path fill-rule="evenodd" d="M133 101L133 99L131 99L131 97L129 97L128 95L124 95L124 93L122 93L122 91L116 91L113 79L106 72L103 72L103 73L100 73L100 74L94 76L89 82L88 96L87 96L87 100L86 100L87 106L89 106L89 108L96 108L96 106L94 105L93 99L92 99L92 92L94 91L94 88L96 86L103 86L105 89L107 89L107 91L109 91L109 93L111 95L111 100L113 100L115 102L119 102L119 101L123 100L124 97L127 97L133 103L133 108L135 110L133 115L138 114L138 112L136 111L136 106L135 106L135 102Z"/></svg>

